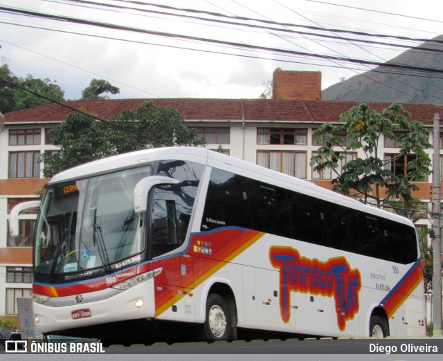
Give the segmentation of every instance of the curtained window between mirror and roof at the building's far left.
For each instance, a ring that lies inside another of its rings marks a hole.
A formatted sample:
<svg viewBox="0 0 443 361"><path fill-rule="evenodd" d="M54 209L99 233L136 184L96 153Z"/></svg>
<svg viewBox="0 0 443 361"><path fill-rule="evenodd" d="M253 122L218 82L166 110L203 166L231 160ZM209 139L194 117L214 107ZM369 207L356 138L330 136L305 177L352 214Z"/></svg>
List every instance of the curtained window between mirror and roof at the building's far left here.
<svg viewBox="0 0 443 361"><path fill-rule="evenodd" d="M39 151L10 151L9 178L39 178Z"/></svg>

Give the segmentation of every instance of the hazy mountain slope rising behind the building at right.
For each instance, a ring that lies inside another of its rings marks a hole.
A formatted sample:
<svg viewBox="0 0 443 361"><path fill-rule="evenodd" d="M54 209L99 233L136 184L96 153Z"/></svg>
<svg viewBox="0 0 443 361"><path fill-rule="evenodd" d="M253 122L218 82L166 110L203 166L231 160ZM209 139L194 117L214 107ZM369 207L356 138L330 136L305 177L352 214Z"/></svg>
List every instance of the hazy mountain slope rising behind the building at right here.
<svg viewBox="0 0 443 361"><path fill-rule="evenodd" d="M440 35L388 63L443 70L442 51L443 35ZM322 91L322 100L443 104L443 74L378 66L329 86Z"/></svg>

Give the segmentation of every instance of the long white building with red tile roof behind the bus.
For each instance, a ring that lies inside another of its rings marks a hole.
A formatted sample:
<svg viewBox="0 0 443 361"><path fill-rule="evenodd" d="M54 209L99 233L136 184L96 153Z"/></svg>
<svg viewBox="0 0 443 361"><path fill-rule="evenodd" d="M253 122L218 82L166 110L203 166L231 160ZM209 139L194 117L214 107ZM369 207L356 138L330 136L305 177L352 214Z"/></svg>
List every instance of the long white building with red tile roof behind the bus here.
<svg viewBox="0 0 443 361"><path fill-rule="evenodd" d="M48 131L74 109L106 120L146 101L174 107L188 127L197 127L206 137L209 149L221 146L235 158L330 189L331 175L318 175L309 166L309 159L318 149L313 130L324 122L338 123L341 113L359 103L321 100L320 77L318 72L275 71L273 99L76 100L63 103L71 109L49 104L4 114L3 131L0 128L0 315L16 313L15 298L30 295L32 286L29 275L35 214L21 216L21 236L11 239L7 226L9 211L13 205L35 198L46 183L43 165L37 162L39 154L57 150L48 138ZM369 105L382 111L390 103ZM432 143L433 118L441 111L440 107L433 104L404 104L404 107L428 127ZM382 158L398 149L383 145L380 151ZM414 196L429 200L431 185L430 176L419 183L420 190Z"/></svg>

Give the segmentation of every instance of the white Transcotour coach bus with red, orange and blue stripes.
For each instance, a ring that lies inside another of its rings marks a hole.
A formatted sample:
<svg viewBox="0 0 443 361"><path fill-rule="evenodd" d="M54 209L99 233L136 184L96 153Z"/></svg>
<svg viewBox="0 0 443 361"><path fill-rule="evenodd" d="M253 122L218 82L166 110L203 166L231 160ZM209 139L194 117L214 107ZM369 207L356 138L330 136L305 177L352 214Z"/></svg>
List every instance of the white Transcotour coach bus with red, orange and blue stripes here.
<svg viewBox="0 0 443 361"><path fill-rule="evenodd" d="M203 148L146 149L55 175L41 204L10 212L12 234L30 207L44 334L425 334L413 223L307 180Z"/></svg>

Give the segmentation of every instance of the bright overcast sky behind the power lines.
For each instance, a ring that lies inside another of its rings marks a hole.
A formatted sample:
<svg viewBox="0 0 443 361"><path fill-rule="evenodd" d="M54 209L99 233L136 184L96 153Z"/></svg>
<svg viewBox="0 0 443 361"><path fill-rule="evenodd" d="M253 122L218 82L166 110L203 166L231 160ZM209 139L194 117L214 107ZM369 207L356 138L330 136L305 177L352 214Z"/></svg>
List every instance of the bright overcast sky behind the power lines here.
<svg viewBox="0 0 443 361"><path fill-rule="evenodd" d="M0 0L0 8L32 10L107 24L107 27L75 24L11 14L0 9L1 64L8 64L12 73L19 77L30 74L56 81L64 90L66 99L81 98L82 90L93 78L108 80L120 88L120 94L111 95L111 98L258 98L265 89L263 82L272 80L272 73L277 67L291 71L321 71L322 89L325 89L342 78L347 79L370 68L321 56L386 62L406 50L394 44L420 44L419 41L320 31L300 26L419 39L432 39L443 34L442 0L89 2L128 9L68 0ZM152 4L188 11L160 8ZM228 18L234 16L248 20ZM251 19L297 26L266 24ZM228 21L241 25L227 24ZM133 30L114 30L109 25ZM148 30L149 33L140 30ZM174 36L166 37L153 32ZM177 35L185 38L178 39ZM383 41L390 45L359 43L339 37ZM253 48L239 47L233 43L248 44ZM292 50L313 56L264 48Z"/></svg>

